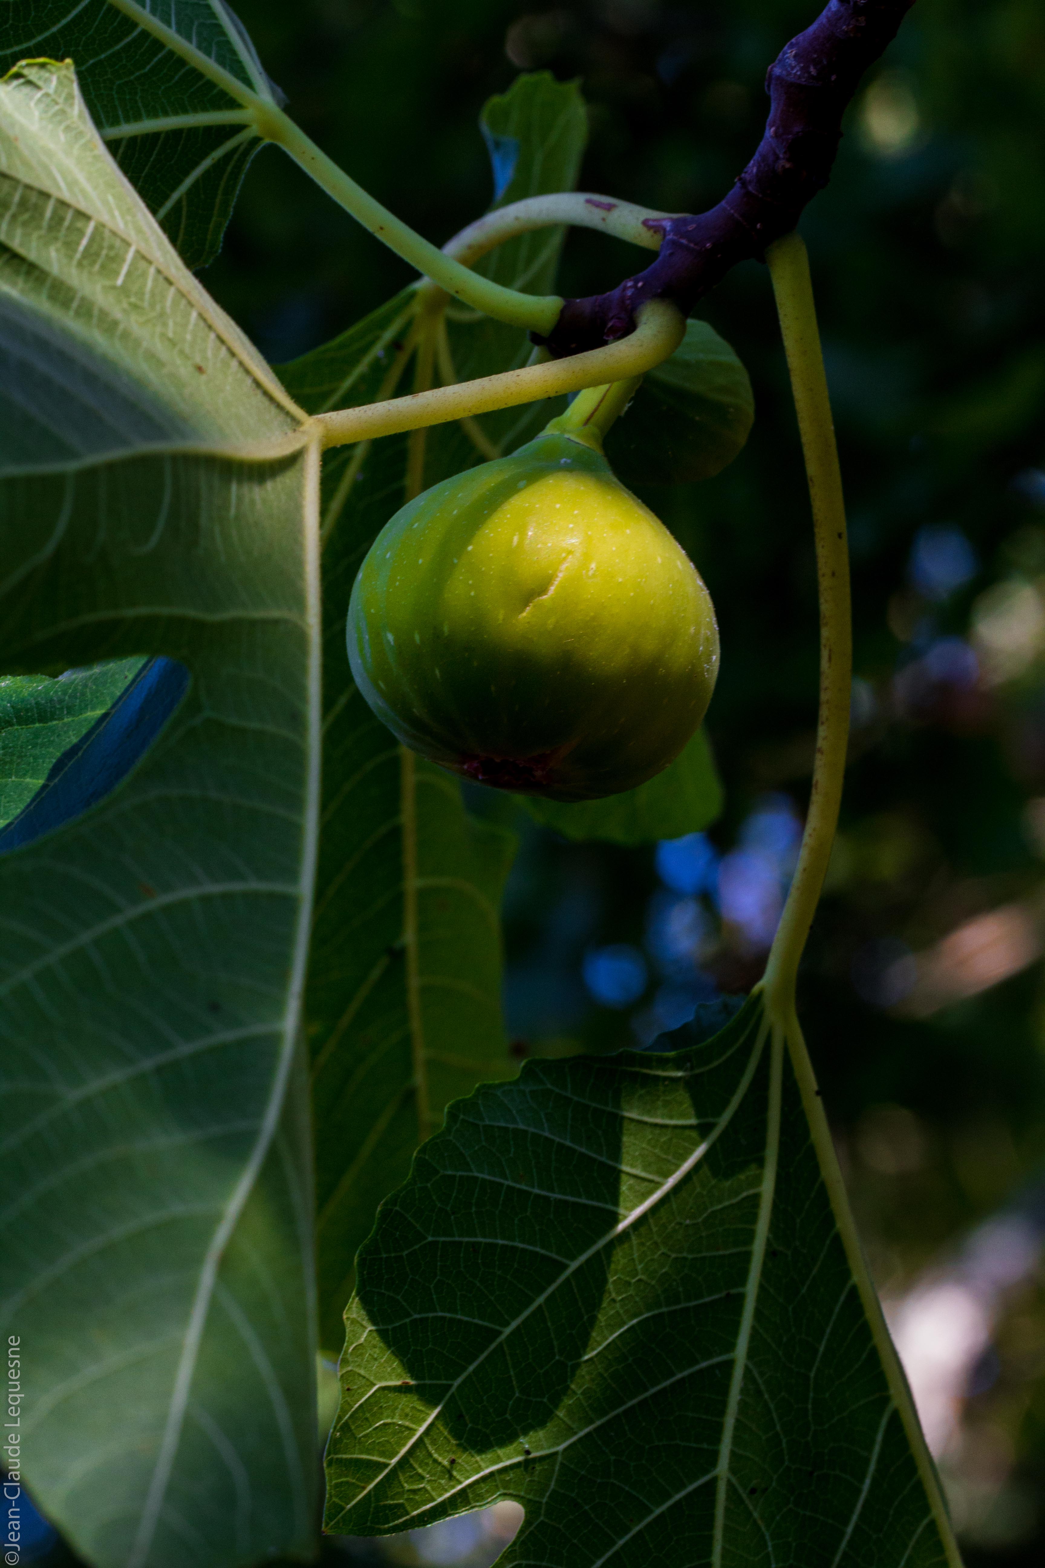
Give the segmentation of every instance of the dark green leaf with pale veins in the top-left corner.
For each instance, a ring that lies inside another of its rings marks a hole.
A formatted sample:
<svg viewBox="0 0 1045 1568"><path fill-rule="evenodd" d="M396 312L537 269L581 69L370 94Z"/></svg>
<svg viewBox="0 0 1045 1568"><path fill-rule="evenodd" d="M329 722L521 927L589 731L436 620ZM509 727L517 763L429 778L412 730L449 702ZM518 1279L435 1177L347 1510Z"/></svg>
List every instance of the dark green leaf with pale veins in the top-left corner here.
<svg viewBox="0 0 1045 1568"><path fill-rule="evenodd" d="M251 105L279 97L226 0L3 9L0 72L30 56L71 58L96 125L185 262L212 260L262 146Z"/></svg>

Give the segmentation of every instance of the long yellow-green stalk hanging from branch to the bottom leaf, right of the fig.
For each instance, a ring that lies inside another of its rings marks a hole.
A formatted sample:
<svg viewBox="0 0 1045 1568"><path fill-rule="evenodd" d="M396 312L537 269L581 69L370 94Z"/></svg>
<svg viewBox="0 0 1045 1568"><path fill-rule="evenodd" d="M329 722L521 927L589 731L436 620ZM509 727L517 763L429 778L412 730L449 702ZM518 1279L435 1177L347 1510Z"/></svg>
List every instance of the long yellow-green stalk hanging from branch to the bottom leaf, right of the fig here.
<svg viewBox="0 0 1045 1568"><path fill-rule="evenodd" d="M794 880L761 982L769 1010L776 1016L788 1016L794 1010L797 966L838 826L849 743L852 615L841 470L816 329L808 256L801 237L788 234L768 248L766 260L805 456L819 586L819 718L813 787Z"/></svg>

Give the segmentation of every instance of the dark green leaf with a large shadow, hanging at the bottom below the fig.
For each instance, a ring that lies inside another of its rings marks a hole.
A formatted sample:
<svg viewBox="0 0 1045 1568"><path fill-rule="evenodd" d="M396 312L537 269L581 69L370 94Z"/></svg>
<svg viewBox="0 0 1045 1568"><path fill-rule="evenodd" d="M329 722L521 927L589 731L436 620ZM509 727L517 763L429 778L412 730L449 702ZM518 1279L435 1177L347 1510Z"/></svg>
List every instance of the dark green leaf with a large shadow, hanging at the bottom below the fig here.
<svg viewBox="0 0 1045 1568"><path fill-rule="evenodd" d="M327 1529L514 1497L504 1568L957 1568L788 1033L755 996L451 1107L360 1253Z"/></svg>

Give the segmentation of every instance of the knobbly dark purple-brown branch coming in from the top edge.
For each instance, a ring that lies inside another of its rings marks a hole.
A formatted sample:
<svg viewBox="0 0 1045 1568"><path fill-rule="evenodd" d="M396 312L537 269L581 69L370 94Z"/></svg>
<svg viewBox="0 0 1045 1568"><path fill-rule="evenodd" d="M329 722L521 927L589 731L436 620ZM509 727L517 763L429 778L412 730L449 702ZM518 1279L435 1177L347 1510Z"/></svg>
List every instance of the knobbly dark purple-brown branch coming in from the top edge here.
<svg viewBox="0 0 1045 1568"><path fill-rule="evenodd" d="M830 0L769 67L766 132L729 196L692 218L647 218L664 235L653 265L609 293L567 299L548 337L533 334L534 342L559 359L598 348L633 331L635 312L647 299L671 299L689 315L730 267L761 259L768 245L790 234L830 177L841 116L860 77L912 5Z"/></svg>

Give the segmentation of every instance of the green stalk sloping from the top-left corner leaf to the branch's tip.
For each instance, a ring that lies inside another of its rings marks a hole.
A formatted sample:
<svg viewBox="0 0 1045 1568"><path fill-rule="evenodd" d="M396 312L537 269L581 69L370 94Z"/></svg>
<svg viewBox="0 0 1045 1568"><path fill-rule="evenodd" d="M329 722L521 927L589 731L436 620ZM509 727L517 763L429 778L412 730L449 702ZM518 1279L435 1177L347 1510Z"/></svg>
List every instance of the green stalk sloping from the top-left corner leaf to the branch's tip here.
<svg viewBox="0 0 1045 1568"><path fill-rule="evenodd" d="M417 267L418 273L431 278L451 298L461 299L498 321L508 321L511 326L523 326L541 334L551 331L562 309L559 295L525 295L517 289L504 289L479 273L468 271L453 256L447 256L437 245L421 238L401 218L374 201L274 103L259 99L254 107L254 124L260 136L274 141L276 146L290 154L295 163L299 163L306 174L357 223L370 229L410 267Z"/></svg>

